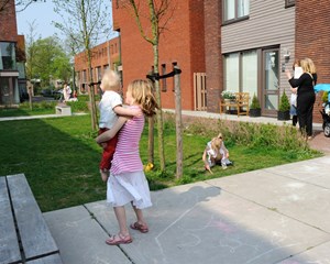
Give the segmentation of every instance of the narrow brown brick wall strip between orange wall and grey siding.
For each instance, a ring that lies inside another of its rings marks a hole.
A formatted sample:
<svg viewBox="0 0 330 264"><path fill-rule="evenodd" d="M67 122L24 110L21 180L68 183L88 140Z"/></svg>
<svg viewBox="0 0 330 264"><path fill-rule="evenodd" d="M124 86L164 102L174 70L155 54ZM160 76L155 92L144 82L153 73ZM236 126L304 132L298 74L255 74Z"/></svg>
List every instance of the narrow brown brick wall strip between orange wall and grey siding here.
<svg viewBox="0 0 330 264"><path fill-rule="evenodd" d="M221 56L222 6L219 0L205 0L205 50L207 73L207 106L209 112L219 111L219 98L223 84Z"/></svg>

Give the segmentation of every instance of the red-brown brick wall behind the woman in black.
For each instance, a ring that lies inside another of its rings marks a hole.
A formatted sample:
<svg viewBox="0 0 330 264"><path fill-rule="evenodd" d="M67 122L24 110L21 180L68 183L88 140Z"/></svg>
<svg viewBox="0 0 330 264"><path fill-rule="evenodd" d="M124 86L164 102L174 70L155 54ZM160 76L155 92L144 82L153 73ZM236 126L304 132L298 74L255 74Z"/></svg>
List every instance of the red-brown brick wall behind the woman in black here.
<svg viewBox="0 0 330 264"><path fill-rule="evenodd" d="M310 57L318 82L330 84L330 6L328 0L296 1L296 57ZM321 92L317 96L314 122L321 122Z"/></svg>

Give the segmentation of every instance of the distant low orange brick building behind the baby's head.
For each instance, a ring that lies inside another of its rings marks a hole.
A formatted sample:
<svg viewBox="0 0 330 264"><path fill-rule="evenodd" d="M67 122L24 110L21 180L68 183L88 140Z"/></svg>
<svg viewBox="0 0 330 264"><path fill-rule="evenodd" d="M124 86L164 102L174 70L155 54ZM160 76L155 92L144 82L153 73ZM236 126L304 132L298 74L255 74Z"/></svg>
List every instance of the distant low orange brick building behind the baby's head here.
<svg viewBox="0 0 330 264"><path fill-rule="evenodd" d="M91 74L94 82L101 80L106 69L121 69L119 37L107 41L91 50ZM88 68L87 55L81 52L75 56L76 85L79 92L84 94L88 90L90 84L90 73ZM97 87L96 92L97 92Z"/></svg>

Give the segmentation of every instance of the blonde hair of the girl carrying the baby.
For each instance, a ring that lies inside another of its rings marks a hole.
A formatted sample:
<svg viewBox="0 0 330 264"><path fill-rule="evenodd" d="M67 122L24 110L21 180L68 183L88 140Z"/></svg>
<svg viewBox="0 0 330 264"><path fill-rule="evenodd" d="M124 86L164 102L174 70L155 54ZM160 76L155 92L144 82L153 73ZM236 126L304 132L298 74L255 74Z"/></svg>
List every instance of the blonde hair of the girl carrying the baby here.
<svg viewBox="0 0 330 264"><path fill-rule="evenodd" d="M152 117L156 113L158 105L152 92L152 84L148 80L133 80L129 85L128 91L131 92L134 102L141 107L145 116Z"/></svg>

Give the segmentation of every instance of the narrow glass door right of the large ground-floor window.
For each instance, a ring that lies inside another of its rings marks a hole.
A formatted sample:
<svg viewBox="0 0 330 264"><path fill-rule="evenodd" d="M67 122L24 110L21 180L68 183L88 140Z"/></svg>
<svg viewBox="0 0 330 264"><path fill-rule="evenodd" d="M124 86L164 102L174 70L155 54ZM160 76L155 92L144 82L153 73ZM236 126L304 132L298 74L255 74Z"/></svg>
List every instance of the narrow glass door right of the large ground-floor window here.
<svg viewBox="0 0 330 264"><path fill-rule="evenodd" d="M279 50L263 51L263 86L262 86L263 116L276 117L279 91Z"/></svg>

